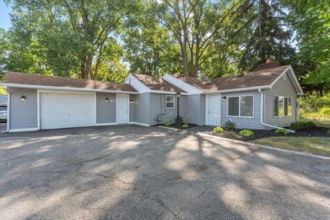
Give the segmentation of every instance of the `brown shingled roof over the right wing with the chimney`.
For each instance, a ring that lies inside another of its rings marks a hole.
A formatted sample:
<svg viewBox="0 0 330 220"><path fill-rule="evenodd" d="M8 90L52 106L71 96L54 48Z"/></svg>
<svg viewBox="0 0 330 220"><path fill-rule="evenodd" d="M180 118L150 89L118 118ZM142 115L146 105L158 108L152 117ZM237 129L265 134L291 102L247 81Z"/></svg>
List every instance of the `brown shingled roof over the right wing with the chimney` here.
<svg viewBox="0 0 330 220"><path fill-rule="evenodd" d="M203 92L222 91L229 89L245 89L250 87L270 87L290 65L262 69L256 72L249 72L243 76L219 77L210 80L201 80L192 77L175 76L184 82L200 89Z"/></svg>

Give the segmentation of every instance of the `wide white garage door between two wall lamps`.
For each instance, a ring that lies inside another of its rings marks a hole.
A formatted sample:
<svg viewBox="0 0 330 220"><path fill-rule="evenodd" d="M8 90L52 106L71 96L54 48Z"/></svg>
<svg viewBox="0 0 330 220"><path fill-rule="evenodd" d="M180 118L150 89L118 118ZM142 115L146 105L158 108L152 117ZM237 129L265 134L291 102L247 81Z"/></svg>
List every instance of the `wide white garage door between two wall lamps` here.
<svg viewBox="0 0 330 220"><path fill-rule="evenodd" d="M93 94L40 94L41 129L94 126Z"/></svg>

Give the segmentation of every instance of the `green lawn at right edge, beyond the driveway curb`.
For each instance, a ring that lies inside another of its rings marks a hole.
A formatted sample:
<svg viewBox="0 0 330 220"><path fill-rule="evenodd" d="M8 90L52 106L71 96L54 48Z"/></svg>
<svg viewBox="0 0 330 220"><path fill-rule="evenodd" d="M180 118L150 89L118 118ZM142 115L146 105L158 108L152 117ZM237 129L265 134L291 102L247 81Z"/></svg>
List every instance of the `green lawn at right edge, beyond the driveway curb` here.
<svg viewBox="0 0 330 220"><path fill-rule="evenodd" d="M312 121L315 122L316 126L330 129L329 121ZM330 137L267 137L252 142L330 157Z"/></svg>

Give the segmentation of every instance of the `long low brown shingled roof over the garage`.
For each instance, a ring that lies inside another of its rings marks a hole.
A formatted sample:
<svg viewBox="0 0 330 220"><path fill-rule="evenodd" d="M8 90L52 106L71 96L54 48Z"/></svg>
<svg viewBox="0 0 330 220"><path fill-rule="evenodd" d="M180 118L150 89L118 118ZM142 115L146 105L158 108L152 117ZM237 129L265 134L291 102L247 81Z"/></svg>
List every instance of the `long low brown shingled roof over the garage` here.
<svg viewBox="0 0 330 220"><path fill-rule="evenodd" d="M18 72L8 72L2 83L17 85L35 85L46 87L67 87L80 89L103 89L111 91L131 91L136 89L126 83L111 83L97 80L87 80L81 78L68 78L58 76L43 76L36 74L22 74Z"/></svg>

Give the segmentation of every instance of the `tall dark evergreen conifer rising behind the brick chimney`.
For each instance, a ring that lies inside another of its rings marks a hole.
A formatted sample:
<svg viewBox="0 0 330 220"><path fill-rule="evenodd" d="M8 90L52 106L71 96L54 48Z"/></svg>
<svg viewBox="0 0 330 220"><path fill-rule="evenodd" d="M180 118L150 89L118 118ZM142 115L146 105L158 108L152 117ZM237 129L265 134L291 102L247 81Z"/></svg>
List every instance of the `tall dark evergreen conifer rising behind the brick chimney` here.
<svg viewBox="0 0 330 220"><path fill-rule="evenodd" d="M285 22L287 14L281 2L259 0L245 16L250 25L245 29L249 37L239 63L241 71L256 70L266 58L280 61L284 65L292 64L296 52L290 44L292 32Z"/></svg>

